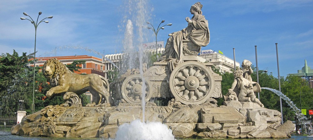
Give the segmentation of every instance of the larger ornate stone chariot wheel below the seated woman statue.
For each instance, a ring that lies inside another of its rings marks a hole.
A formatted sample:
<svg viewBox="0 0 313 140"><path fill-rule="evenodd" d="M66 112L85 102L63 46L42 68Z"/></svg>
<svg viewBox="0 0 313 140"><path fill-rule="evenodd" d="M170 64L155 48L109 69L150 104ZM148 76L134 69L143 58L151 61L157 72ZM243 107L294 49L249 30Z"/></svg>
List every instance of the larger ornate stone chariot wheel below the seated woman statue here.
<svg viewBox="0 0 313 140"><path fill-rule="evenodd" d="M212 96L214 85L210 69L197 61L177 65L169 82L175 100L183 104L204 103Z"/></svg>

